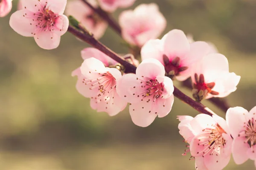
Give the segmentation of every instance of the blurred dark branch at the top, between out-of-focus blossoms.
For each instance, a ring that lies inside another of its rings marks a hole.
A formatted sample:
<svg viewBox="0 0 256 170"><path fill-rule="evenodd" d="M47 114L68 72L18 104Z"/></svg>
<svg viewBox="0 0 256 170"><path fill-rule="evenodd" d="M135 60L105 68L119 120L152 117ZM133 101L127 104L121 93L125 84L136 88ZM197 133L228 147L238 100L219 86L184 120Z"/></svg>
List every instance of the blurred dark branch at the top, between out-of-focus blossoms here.
<svg viewBox="0 0 256 170"><path fill-rule="evenodd" d="M111 26L119 35L121 35L121 28L118 23L105 11L101 8L94 8L87 0L82 0L88 7L90 7L95 13L108 22L108 25Z"/></svg>

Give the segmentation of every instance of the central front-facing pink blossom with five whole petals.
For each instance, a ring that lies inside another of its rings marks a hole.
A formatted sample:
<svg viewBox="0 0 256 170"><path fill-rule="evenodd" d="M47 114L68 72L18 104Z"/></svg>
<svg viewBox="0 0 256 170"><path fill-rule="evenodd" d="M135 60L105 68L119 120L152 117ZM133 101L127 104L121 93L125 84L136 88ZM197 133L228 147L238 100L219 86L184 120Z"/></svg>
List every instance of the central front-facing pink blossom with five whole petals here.
<svg viewBox="0 0 256 170"><path fill-rule="evenodd" d="M131 119L135 125L146 127L154 119L166 116L174 102L172 79L165 77L163 65L156 59L146 59L136 74L125 74L117 81L116 91L131 103Z"/></svg>

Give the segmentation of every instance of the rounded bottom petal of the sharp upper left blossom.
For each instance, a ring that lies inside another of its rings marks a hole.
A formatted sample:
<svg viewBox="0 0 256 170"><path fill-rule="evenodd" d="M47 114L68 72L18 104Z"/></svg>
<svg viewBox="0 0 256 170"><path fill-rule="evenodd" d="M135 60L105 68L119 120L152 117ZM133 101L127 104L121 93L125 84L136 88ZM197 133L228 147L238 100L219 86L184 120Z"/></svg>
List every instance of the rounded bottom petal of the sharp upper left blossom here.
<svg viewBox="0 0 256 170"><path fill-rule="evenodd" d="M38 46L46 50L57 48L61 41L61 36L53 31L39 32L34 38Z"/></svg>

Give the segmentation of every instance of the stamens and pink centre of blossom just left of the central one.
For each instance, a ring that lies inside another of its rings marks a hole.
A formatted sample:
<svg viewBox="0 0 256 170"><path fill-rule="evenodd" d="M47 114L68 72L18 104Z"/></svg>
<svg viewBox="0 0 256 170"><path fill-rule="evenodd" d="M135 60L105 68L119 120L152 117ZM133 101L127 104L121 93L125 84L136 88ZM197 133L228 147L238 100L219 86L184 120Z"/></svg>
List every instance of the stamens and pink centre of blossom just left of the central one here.
<svg viewBox="0 0 256 170"><path fill-rule="evenodd" d="M96 74L96 73L93 73ZM102 96L105 94L109 94L114 87L116 87L116 79L112 76L110 72L107 73L99 73L101 75L98 78L93 79L83 79L83 83L85 85L91 85L90 90L94 88L98 88L99 94L98 96Z"/></svg>

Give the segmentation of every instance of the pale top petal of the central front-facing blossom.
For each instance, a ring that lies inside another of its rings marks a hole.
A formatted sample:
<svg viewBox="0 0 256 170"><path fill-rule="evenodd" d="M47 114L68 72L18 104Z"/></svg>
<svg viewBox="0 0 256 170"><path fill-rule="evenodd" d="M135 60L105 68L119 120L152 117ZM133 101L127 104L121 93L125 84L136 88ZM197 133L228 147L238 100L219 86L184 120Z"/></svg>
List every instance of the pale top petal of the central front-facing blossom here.
<svg viewBox="0 0 256 170"><path fill-rule="evenodd" d="M138 77L148 77L156 79L157 76L164 76L164 66L157 59L145 59L136 69Z"/></svg>

